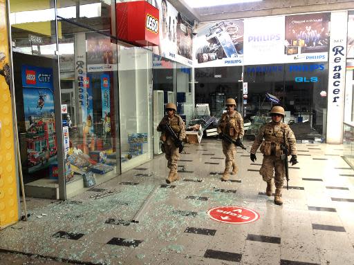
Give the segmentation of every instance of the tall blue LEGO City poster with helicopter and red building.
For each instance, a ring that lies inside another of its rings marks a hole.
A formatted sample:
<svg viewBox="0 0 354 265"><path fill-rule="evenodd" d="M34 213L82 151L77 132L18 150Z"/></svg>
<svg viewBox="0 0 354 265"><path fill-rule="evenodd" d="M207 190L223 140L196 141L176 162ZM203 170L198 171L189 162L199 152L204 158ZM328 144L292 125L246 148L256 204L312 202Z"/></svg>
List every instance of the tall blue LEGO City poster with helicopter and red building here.
<svg viewBox="0 0 354 265"><path fill-rule="evenodd" d="M29 173L56 160L53 70L22 66L27 166Z"/></svg>

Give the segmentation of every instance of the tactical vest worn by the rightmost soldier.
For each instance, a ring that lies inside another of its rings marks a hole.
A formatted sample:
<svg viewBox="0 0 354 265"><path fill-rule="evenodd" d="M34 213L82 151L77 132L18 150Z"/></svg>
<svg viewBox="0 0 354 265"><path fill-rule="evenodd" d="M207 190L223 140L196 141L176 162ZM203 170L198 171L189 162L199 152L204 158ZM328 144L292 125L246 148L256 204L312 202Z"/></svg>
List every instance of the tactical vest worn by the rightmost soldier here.
<svg viewBox="0 0 354 265"><path fill-rule="evenodd" d="M281 123L280 130L274 132L275 126L271 123L266 124L264 128L264 140L261 144L259 150L263 155L275 155L280 157L283 154L283 150L281 145L284 144L283 141L283 132L286 131L286 124ZM288 146L288 150L290 150L290 146L288 145L288 141L286 141L286 145Z"/></svg>

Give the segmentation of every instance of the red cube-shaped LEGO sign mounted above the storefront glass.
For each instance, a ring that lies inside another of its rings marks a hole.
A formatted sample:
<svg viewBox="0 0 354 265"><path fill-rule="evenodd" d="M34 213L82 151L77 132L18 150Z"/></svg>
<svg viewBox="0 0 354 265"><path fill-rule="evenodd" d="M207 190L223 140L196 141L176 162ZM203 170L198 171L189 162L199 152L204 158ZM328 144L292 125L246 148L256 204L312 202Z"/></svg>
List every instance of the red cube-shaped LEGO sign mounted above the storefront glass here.
<svg viewBox="0 0 354 265"><path fill-rule="evenodd" d="M118 39L136 46L158 46L159 10L147 1L115 4Z"/></svg>

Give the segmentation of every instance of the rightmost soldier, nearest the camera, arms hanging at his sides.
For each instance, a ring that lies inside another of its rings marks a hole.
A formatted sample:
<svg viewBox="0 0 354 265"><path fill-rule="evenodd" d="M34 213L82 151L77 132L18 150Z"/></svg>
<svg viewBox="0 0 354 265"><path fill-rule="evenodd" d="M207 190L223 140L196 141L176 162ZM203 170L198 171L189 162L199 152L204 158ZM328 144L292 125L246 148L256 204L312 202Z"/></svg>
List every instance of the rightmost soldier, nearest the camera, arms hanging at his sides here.
<svg viewBox="0 0 354 265"><path fill-rule="evenodd" d="M270 116L272 121L265 124L254 139L254 143L251 148L250 159L252 162L257 160L256 152L259 146L263 153L263 163L259 174L262 175L263 180L267 182L267 188L265 193L268 196L272 196L272 176L273 168L275 171L275 196L274 204L282 205L283 200L281 199L281 188L283 188L283 181L285 176L285 166L281 160L281 155L283 153L281 145L286 144L288 147L288 153L291 155L290 164L293 166L297 164L297 146L294 133L288 126L288 124L283 124L281 118L285 115L284 109L281 106L274 106L270 110ZM283 133L285 133L286 143L283 141ZM264 140L263 140L264 138Z"/></svg>

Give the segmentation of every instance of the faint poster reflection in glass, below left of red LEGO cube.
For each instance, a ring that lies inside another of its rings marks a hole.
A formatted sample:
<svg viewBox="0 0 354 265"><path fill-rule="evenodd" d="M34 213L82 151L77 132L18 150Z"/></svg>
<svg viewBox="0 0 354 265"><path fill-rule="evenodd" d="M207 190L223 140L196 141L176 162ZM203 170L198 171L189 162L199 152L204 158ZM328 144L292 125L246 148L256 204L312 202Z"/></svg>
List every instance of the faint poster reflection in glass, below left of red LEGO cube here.
<svg viewBox="0 0 354 265"><path fill-rule="evenodd" d="M111 46L111 38L86 33L87 72L117 70L117 52Z"/></svg>

